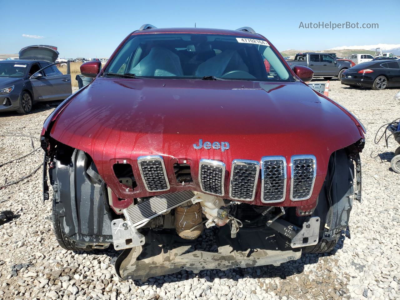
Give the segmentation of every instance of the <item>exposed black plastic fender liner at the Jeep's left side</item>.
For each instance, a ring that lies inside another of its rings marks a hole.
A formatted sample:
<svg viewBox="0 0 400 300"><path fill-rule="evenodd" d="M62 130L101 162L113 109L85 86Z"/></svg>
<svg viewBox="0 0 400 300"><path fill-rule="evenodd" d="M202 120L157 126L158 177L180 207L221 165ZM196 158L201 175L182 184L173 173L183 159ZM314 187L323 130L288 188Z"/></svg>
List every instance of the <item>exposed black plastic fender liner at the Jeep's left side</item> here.
<svg viewBox="0 0 400 300"><path fill-rule="evenodd" d="M49 173L54 182L56 213L65 236L77 246L110 244L112 214L105 207L107 195L101 178L95 179L87 172L91 164L88 155L75 149L70 164L63 164L57 157L54 162Z"/></svg>

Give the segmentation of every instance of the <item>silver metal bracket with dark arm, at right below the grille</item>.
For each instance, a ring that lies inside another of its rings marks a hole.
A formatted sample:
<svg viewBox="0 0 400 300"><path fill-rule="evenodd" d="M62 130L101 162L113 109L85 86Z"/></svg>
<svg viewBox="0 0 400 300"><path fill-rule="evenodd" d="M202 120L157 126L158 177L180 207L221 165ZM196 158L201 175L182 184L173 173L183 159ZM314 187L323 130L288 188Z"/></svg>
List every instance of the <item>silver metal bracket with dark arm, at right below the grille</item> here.
<svg viewBox="0 0 400 300"><path fill-rule="evenodd" d="M278 219L270 224L270 228L290 238L292 248L311 246L318 243L320 218L310 218L308 222L303 223L302 229L283 219Z"/></svg>

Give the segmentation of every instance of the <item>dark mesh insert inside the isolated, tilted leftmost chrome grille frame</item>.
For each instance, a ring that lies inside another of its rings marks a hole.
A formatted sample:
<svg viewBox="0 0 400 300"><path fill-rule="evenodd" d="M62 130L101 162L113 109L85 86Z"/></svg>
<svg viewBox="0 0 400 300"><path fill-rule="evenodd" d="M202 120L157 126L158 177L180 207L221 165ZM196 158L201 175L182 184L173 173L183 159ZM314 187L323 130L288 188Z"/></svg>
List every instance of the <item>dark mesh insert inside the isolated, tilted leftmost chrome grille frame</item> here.
<svg viewBox="0 0 400 300"><path fill-rule="evenodd" d="M169 189L161 160L141 160L139 166L148 191L152 192Z"/></svg>

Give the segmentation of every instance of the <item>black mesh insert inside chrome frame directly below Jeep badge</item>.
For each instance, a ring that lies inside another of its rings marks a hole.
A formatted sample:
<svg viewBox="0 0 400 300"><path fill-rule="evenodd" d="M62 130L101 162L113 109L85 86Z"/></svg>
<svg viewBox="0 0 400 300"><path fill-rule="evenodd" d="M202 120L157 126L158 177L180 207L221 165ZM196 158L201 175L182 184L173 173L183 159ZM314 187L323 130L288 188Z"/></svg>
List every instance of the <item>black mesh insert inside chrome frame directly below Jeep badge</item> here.
<svg viewBox="0 0 400 300"><path fill-rule="evenodd" d="M207 193L223 195L223 172L220 166L202 164L200 166L200 181L202 190Z"/></svg>

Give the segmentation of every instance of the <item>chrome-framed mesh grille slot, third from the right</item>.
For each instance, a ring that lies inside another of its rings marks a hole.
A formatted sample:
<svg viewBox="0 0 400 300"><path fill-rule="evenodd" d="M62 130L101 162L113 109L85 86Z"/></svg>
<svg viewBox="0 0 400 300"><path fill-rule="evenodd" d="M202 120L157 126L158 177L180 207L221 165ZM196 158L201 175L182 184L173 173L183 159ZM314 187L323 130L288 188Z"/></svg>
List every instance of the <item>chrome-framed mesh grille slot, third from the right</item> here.
<svg viewBox="0 0 400 300"><path fill-rule="evenodd" d="M256 196L260 162L235 159L230 170L229 197L234 200L252 201Z"/></svg>

